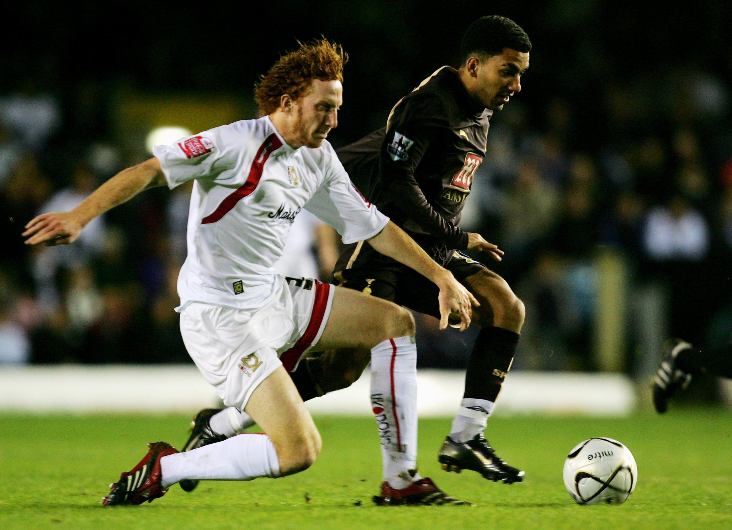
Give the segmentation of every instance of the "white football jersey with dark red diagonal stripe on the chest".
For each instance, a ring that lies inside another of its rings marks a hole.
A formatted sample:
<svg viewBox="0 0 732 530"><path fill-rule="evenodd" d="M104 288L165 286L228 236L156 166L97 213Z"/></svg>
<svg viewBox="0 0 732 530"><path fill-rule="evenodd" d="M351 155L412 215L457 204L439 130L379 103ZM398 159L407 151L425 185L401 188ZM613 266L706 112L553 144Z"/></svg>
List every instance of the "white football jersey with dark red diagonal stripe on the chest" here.
<svg viewBox="0 0 732 530"><path fill-rule="evenodd" d="M153 153L168 187L195 181L177 311L191 302L238 309L268 302L283 281L275 262L303 208L346 244L375 236L389 221L356 190L330 143L293 149L269 116L214 127Z"/></svg>

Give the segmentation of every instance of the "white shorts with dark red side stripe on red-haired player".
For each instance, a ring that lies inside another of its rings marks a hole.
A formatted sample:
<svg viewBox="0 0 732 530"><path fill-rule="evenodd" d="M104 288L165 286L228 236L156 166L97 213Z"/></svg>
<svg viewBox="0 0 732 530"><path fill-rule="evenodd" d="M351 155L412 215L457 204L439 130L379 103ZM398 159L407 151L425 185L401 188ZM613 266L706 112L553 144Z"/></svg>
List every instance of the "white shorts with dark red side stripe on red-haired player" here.
<svg viewBox="0 0 732 530"><path fill-rule="evenodd" d="M320 340L334 294L328 283L290 278L254 310L193 302L181 312L183 342L224 404L244 410L269 374L280 366L293 371Z"/></svg>

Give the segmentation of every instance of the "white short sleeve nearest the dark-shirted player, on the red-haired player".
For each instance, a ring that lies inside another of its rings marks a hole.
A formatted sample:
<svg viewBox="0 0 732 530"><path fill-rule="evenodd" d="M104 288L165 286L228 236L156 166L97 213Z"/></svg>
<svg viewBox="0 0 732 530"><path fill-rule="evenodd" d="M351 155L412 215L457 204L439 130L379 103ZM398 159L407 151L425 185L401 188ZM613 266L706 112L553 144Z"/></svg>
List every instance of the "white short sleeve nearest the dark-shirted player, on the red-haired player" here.
<svg viewBox="0 0 732 530"><path fill-rule="evenodd" d="M389 217L356 189L335 152L329 160L326 179L305 209L335 228L346 245L376 236L389 223Z"/></svg>

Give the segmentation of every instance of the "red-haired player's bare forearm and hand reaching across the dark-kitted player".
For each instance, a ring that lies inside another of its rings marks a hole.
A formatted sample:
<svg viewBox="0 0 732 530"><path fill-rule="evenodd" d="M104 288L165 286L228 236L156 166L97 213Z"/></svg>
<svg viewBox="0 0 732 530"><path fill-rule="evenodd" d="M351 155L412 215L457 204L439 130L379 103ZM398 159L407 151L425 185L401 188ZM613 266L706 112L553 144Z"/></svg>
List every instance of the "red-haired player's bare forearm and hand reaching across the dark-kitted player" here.
<svg viewBox="0 0 732 530"><path fill-rule="evenodd" d="M384 230L368 242L377 252L411 267L438 286L440 329L447 328L450 316L460 318L460 331L468 329L472 307L480 305L477 299L455 280L452 272L436 264L405 231L389 221Z"/></svg>

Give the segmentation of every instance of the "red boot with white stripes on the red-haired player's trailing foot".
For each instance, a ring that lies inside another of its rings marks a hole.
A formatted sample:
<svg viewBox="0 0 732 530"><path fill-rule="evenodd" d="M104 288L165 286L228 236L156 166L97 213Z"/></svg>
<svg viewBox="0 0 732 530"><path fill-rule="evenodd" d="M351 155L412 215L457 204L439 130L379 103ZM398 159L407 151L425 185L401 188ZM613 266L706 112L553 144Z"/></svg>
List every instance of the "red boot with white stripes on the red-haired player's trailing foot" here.
<svg viewBox="0 0 732 530"><path fill-rule="evenodd" d="M160 485L160 458L175 455L177 449L164 441L147 444L150 450L132 471L119 475L119 482L109 485L109 496L102 498L102 504L142 504L162 497L168 490Z"/></svg>

